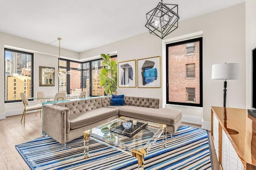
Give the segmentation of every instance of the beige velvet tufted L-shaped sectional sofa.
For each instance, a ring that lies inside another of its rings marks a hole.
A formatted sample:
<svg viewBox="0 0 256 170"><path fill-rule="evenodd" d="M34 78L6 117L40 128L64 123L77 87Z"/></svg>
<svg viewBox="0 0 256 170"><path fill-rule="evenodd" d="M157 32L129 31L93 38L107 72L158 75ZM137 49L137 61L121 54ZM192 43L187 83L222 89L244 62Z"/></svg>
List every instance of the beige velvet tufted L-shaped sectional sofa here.
<svg viewBox="0 0 256 170"><path fill-rule="evenodd" d="M124 106L110 106L110 99L103 96L44 104L42 131L65 144L119 116L165 124L172 135L182 121L180 110L160 108L159 99L124 96Z"/></svg>

